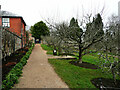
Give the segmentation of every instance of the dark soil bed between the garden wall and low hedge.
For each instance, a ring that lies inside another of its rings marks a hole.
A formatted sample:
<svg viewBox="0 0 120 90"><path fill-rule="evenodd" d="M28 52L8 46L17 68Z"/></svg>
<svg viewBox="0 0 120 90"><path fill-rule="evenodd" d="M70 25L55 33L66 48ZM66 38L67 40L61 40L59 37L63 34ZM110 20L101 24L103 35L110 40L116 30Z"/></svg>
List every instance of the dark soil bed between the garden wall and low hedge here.
<svg viewBox="0 0 120 90"><path fill-rule="evenodd" d="M4 60L2 60L2 80L5 79L9 71L21 60L27 51L28 47L18 49L10 56L7 56Z"/></svg>

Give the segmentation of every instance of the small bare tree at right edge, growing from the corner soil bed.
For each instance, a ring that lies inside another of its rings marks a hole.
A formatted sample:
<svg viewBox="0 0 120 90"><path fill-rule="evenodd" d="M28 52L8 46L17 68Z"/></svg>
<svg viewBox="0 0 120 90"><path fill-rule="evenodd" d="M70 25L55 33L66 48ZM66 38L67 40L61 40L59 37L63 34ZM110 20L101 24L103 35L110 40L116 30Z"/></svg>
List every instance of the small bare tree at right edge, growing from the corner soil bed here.
<svg viewBox="0 0 120 90"><path fill-rule="evenodd" d="M116 16L112 15L109 18L109 26L106 29L104 39L102 41L102 48L100 53L99 67L103 72L111 73L116 85L117 76L120 77L120 24Z"/></svg>

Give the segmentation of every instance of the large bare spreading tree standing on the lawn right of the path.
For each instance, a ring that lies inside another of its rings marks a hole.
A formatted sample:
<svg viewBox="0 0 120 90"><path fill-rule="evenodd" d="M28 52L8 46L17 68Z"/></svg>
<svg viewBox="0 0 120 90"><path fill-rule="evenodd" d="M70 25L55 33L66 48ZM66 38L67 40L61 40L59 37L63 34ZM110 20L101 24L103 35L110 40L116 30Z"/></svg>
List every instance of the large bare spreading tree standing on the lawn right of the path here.
<svg viewBox="0 0 120 90"><path fill-rule="evenodd" d="M54 39L59 38L57 42L60 42L61 48L69 46L69 48L63 48L63 50L72 48L72 51L74 51L76 49L79 52L79 63L82 63L82 56L89 53L83 54L83 52L103 39L104 31L101 15L97 14L92 21L90 21L90 18L91 16L87 15L85 18L87 23L85 20L81 22L82 25L85 24L84 29L80 28L77 19L74 18L71 19L70 25L64 22L53 26L56 32L56 34L52 35Z"/></svg>

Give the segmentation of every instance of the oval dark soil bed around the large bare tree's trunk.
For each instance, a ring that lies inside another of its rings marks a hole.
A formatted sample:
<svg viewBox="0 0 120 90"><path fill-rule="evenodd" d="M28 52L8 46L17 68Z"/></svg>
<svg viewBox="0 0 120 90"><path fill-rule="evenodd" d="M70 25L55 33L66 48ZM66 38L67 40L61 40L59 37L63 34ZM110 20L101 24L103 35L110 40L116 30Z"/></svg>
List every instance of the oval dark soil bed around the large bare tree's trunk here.
<svg viewBox="0 0 120 90"><path fill-rule="evenodd" d="M79 66L79 67L83 67L83 68L98 69L98 66L88 63L88 62L78 63L78 61L70 61L70 63L73 65Z"/></svg>

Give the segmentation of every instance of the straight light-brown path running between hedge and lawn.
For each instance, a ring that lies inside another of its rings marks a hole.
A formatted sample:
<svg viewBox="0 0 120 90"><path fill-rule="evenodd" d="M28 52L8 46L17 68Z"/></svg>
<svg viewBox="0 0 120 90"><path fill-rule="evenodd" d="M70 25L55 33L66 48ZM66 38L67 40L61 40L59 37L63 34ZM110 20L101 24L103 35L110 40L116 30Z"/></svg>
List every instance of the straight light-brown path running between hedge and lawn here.
<svg viewBox="0 0 120 90"><path fill-rule="evenodd" d="M28 63L23 68L22 77L14 88L68 88L48 63L46 51L36 44Z"/></svg>

